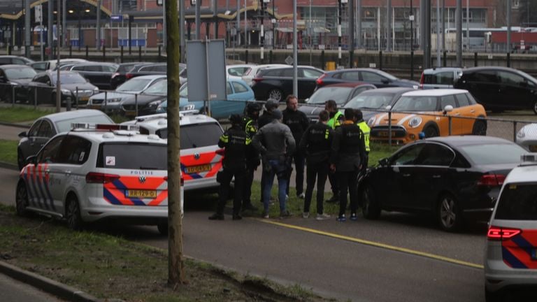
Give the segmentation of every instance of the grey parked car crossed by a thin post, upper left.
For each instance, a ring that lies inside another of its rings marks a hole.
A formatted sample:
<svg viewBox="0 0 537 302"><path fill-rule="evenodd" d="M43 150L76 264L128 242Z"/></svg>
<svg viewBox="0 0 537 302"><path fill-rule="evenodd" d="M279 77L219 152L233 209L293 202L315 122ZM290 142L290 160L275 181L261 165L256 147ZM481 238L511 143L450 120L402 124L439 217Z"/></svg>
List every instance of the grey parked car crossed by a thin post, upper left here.
<svg viewBox="0 0 537 302"><path fill-rule="evenodd" d="M90 96L99 92L99 88L88 82L86 78L75 71L60 71L59 79L62 89L62 105L66 101L75 103L87 103ZM56 103L57 71L45 71L38 73L28 83L27 99L30 103L37 98L38 103L54 105Z"/></svg>

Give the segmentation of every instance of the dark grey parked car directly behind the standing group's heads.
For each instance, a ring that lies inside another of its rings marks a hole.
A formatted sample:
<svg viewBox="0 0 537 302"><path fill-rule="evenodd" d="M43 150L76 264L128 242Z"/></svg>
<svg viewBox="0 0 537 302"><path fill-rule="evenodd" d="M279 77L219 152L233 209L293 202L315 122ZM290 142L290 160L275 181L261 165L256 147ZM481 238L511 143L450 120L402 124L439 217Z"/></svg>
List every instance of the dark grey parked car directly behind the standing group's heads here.
<svg viewBox="0 0 537 302"><path fill-rule="evenodd" d="M333 99L338 104L338 108L343 107L345 103L353 97L369 89L375 89L375 85L364 83L340 83L327 85L315 90L306 103L299 107L311 122L319 120L319 112L324 110L324 102Z"/></svg>

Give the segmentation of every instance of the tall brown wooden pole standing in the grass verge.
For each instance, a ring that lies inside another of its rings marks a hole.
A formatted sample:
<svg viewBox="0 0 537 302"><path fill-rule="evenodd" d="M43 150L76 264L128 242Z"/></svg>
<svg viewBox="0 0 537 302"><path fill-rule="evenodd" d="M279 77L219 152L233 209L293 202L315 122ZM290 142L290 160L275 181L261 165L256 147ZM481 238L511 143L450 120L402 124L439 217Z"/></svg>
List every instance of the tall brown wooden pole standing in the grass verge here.
<svg viewBox="0 0 537 302"><path fill-rule="evenodd" d="M166 1L166 57L168 78L168 284L185 284L182 254L180 127L179 127L179 24L177 0ZM182 1L182 0L181 0ZM196 1L197 2L197 1Z"/></svg>

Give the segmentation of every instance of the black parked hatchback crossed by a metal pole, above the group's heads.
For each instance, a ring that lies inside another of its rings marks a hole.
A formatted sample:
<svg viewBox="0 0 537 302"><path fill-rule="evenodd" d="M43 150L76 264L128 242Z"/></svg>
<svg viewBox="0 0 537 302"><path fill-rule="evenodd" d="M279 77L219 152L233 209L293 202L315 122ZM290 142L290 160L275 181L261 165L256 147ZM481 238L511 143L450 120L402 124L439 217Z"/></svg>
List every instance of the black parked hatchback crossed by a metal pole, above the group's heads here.
<svg viewBox="0 0 537 302"><path fill-rule="evenodd" d="M324 74L312 66L298 66L299 99L307 99L315 91L315 80ZM293 94L293 67L262 69L252 80L255 99L284 101Z"/></svg>

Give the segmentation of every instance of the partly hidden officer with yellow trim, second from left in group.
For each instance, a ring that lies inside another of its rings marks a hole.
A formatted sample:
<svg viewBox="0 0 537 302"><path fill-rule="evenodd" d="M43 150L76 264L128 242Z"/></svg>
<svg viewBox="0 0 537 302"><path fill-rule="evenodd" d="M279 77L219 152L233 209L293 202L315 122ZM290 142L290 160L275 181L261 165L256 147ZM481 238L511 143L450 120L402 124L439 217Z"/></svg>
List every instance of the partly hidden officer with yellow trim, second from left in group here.
<svg viewBox="0 0 537 302"><path fill-rule="evenodd" d="M259 118L261 105L255 102L248 102L246 105L246 115L243 117L243 130L250 138L253 138L257 133L257 119ZM243 210L255 211L257 208L252 205L252 183L254 182L254 172L257 166L261 164L259 154L250 154L246 159L246 176L243 187Z"/></svg>

